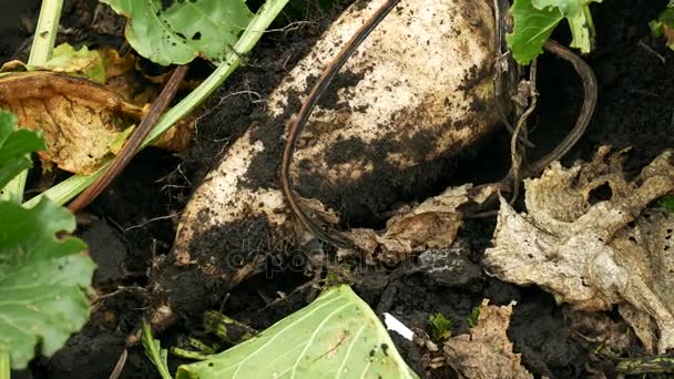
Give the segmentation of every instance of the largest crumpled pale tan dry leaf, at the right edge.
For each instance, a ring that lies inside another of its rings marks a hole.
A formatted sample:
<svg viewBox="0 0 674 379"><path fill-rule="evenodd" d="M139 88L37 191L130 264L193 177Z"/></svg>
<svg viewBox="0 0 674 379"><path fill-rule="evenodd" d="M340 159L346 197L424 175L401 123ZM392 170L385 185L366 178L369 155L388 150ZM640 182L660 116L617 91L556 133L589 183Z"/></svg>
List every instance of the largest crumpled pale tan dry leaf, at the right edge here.
<svg viewBox="0 0 674 379"><path fill-rule="evenodd" d="M525 182L527 214L501 199L484 264L501 280L535 284L576 309L619 305L645 348L665 352L674 348L674 216L647 207L674 191L674 154L630 182L623 153L602 147L569 170L554 163ZM593 204L602 191L606 199Z"/></svg>

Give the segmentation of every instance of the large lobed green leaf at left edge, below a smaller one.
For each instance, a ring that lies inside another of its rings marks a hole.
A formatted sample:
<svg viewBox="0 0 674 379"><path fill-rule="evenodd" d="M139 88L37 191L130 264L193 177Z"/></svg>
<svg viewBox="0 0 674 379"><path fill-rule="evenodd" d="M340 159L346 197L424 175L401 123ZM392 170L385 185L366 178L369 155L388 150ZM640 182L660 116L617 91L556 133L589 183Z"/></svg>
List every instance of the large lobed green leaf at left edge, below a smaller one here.
<svg viewBox="0 0 674 379"><path fill-rule="evenodd" d="M51 356L86 322L94 264L84 242L57 238L75 218L53 202L0 202L0 350L23 369L35 346Z"/></svg>

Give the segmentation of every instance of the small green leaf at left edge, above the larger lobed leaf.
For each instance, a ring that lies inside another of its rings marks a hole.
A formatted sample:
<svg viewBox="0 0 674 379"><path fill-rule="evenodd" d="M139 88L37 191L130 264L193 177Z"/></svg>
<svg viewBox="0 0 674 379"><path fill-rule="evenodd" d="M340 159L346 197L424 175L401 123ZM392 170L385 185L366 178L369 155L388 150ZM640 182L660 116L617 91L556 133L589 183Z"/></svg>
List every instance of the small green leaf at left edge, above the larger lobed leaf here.
<svg viewBox="0 0 674 379"><path fill-rule="evenodd" d="M0 194L14 176L32 166L30 153L44 150L39 134L17 130L17 117L0 110Z"/></svg>

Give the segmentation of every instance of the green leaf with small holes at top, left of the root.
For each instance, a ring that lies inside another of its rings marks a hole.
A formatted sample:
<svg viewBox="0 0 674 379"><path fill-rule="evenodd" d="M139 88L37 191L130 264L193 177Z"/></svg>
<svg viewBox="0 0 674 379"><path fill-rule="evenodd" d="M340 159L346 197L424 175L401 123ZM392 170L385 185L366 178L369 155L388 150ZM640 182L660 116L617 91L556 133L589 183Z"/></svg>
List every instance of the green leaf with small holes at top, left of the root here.
<svg viewBox="0 0 674 379"><path fill-rule="evenodd" d="M245 0L101 0L127 17L126 40L168 65L197 55L219 64L253 18Z"/></svg>

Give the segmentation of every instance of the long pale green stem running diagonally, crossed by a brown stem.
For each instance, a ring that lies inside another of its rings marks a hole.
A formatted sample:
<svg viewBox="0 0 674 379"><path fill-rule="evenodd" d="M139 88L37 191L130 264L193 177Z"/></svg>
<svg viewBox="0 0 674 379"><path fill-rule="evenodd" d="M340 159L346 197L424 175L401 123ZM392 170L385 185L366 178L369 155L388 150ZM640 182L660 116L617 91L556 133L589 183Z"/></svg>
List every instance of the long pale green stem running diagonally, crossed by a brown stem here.
<svg viewBox="0 0 674 379"><path fill-rule="evenodd" d="M288 0L267 0L267 2L265 2L234 45L233 51L226 55L224 62L177 105L164 113L157 121L156 126L150 132L145 142L143 142L143 147L208 99L232 72L241 65L242 55L248 53L255 47L262 34L287 2ZM33 206L38 204L43 196L49 197L61 205L65 204L91 185L91 183L103 173L108 164L110 163L106 163L105 166L91 175L73 175L62 183L49 188L41 195L33 197L27 202L25 205Z"/></svg>

